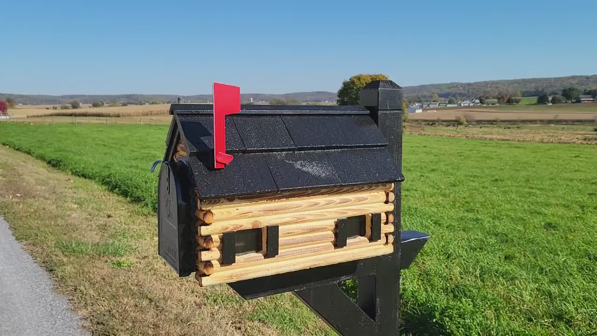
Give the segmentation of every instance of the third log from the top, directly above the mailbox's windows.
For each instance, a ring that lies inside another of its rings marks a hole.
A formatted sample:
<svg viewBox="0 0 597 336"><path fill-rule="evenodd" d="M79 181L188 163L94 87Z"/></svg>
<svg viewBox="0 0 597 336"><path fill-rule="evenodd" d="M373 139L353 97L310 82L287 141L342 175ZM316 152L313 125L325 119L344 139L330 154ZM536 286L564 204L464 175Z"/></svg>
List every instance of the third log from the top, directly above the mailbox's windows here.
<svg viewBox="0 0 597 336"><path fill-rule="evenodd" d="M307 223L310 221L331 220L343 217L393 211L393 204L370 204L347 206L345 208L319 209L315 211L304 211L299 214L282 214L256 219L246 218L244 220L217 221L210 225L198 227L200 236L219 235L227 231L238 231L256 229L270 225L285 225Z"/></svg>

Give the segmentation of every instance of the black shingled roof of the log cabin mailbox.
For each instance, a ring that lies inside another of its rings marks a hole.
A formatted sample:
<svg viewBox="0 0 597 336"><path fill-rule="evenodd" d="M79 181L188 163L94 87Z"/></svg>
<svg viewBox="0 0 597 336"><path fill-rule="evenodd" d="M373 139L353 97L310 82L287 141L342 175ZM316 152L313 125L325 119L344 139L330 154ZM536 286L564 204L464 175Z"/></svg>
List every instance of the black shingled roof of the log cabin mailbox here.
<svg viewBox="0 0 597 336"><path fill-rule="evenodd" d="M180 133L201 199L404 180L366 109L244 105L226 116L226 152L213 169L211 105L173 104L167 159Z"/></svg>

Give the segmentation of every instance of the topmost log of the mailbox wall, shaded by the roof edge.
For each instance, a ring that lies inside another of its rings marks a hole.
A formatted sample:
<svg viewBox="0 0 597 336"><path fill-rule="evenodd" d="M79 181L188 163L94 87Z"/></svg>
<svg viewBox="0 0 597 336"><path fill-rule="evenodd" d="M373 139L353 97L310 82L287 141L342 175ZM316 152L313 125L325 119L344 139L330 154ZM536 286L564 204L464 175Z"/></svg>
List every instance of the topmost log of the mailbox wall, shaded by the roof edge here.
<svg viewBox="0 0 597 336"><path fill-rule="evenodd" d="M282 199L290 200L293 198L304 198L304 197L327 197L330 195L351 195L355 193L368 193L368 192L387 192L393 190L393 183L379 183L379 184L364 184L360 186L347 186L347 187L331 187L331 188L319 188L301 190L296 192L282 192L282 193L267 193L263 195L248 195L238 196L230 198L219 198L219 199L205 199L201 202L200 209L213 210L230 208L238 205L257 205L257 204L268 204L271 202L279 202Z"/></svg>

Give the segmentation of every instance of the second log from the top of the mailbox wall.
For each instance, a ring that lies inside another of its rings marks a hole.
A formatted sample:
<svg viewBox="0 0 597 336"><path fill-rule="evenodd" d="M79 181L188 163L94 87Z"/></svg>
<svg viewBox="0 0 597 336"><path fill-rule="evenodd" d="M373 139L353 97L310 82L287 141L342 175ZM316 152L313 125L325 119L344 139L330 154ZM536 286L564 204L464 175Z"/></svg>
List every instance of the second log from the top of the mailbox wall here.
<svg viewBox="0 0 597 336"><path fill-rule="evenodd" d="M386 199L386 193L378 191L354 195L331 195L321 198L293 198L254 205L238 205L232 208L202 209L198 210L196 214L205 223L214 223L214 221L241 220L244 218L292 214L316 209L384 203Z"/></svg>

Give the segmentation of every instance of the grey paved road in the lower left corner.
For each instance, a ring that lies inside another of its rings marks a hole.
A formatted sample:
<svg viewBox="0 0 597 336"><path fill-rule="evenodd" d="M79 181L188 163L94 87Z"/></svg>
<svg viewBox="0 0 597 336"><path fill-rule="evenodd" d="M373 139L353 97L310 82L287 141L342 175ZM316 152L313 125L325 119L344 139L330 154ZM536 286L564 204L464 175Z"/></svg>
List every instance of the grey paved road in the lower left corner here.
<svg viewBox="0 0 597 336"><path fill-rule="evenodd" d="M89 335L0 217L0 335Z"/></svg>

